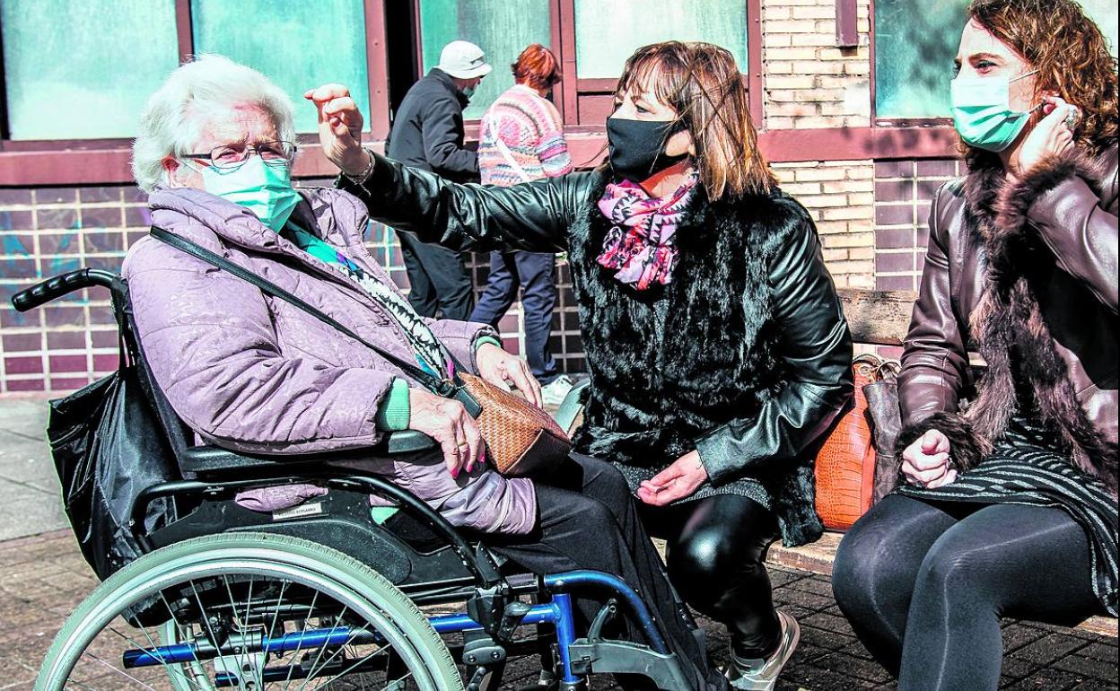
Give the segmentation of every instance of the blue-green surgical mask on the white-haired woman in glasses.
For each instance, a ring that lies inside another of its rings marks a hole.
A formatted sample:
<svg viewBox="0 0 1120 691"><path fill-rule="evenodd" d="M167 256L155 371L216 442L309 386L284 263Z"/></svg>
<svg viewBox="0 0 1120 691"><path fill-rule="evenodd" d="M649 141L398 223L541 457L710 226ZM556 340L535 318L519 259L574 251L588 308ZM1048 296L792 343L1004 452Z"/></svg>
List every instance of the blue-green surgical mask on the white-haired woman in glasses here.
<svg viewBox="0 0 1120 691"><path fill-rule="evenodd" d="M205 166L202 175L206 192L244 206L276 232L288 223L299 204L300 196L291 186L291 167L287 164L265 164L260 156L250 156L236 170Z"/></svg>

